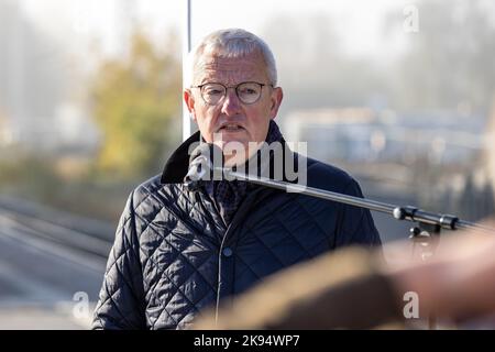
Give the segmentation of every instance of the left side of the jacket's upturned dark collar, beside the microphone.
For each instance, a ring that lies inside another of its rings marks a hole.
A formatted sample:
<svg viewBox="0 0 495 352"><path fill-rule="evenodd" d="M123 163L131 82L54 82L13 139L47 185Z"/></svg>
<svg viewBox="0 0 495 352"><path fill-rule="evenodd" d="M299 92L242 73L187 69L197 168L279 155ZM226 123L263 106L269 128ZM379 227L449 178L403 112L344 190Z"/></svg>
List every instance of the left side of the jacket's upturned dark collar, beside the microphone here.
<svg viewBox="0 0 495 352"><path fill-rule="evenodd" d="M182 184L184 182L189 168L189 146L199 141L200 132L197 131L172 153L163 169L162 184Z"/></svg>

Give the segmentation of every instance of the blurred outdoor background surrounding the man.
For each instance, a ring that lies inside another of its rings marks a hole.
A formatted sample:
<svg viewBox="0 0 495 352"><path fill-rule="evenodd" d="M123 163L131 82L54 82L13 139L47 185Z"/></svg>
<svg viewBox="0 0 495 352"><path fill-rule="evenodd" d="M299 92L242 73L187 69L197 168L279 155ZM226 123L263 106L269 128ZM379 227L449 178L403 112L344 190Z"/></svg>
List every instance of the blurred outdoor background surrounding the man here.
<svg viewBox="0 0 495 352"><path fill-rule="evenodd" d="M0 0L0 329L88 327L129 193L182 141L185 3ZM286 140L365 196L493 215L493 1L191 1L193 44L222 28L266 40Z"/></svg>

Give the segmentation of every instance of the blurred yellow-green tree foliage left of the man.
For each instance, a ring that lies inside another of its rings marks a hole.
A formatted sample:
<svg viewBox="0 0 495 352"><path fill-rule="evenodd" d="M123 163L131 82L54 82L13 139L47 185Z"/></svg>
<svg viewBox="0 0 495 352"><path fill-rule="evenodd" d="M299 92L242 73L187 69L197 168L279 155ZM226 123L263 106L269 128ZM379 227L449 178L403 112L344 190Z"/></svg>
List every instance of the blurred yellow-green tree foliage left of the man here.
<svg viewBox="0 0 495 352"><path fill-rule="evenodd" d="M170 37L158 51L142 34L128 57L105 62L91 97L103 142L97 170L120 178L156 173L178 141L173 120L180 111L180 63Z"/></svg>

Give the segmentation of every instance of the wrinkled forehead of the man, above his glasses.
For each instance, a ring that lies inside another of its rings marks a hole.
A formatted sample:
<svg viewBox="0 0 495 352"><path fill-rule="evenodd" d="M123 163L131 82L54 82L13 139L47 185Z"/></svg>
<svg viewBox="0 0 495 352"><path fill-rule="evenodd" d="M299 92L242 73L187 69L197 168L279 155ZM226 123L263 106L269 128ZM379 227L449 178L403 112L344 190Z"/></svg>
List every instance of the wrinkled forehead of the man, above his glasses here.
<svg viewBox="0 0 495 352"><path fill-rule="evenodd" d="M211 80L237 84L246 80L265 81L266 79L266 64L263 56L257 53L240 57L205 54L198 59L194 70L194 81L198 85Z"/></svg>

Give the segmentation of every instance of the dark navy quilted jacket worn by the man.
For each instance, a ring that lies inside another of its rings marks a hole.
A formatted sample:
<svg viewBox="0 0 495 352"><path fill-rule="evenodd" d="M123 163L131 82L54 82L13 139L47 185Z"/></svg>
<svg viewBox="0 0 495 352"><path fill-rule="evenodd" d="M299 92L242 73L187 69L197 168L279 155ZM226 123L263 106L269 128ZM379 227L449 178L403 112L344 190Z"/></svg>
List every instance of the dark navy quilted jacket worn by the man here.
<svg viewBox="0 0 495 352"><path fill-rule="evenodd" d="M349 244L378 245L369 211L256 187L227 228L208 195L187 191L193 135L162 177L129 197L95 311L94 329L184 329L207 307L270 274ZM362 197L344 172L308 160L308 186Z"/></svg>

